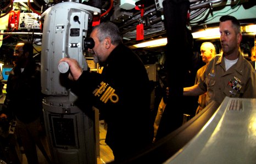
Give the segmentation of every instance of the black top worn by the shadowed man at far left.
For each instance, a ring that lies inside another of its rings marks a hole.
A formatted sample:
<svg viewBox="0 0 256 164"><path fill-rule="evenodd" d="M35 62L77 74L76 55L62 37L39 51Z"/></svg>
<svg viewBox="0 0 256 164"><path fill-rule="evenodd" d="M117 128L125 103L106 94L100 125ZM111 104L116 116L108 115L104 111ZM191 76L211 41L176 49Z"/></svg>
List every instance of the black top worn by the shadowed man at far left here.
<svg viewBox="0 0 256 164"><path fill-rule="evenodd" d="M7 95L1 113L22 122L35 121L42 113L41 74L34 61L21 72L14 67L7 80Z"/></svg>

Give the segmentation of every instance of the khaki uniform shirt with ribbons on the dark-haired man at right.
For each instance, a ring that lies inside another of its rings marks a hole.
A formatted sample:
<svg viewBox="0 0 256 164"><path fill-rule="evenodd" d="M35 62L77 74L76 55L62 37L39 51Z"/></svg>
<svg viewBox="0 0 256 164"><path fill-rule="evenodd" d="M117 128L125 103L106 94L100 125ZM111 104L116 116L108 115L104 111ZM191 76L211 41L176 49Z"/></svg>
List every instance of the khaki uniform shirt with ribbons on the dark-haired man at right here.
<svg viewBox="0 0 256 164"><path fill-rule="evenodd" d="M221 103L226 96L256 98L256 74L241 53L235 65L227 71L224 56L215 55L199 79L198 86L207 91L206 105L213 100Z"/></svg>

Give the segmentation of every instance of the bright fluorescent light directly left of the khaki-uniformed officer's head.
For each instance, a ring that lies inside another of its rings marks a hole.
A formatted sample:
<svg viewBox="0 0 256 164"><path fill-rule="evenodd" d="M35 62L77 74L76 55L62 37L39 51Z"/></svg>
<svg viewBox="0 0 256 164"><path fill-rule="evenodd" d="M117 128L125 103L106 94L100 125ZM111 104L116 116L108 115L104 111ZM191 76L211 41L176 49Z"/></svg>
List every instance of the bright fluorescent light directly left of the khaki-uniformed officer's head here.
<svg viewBox="0 0 256 164"><path fill-rule="evenodd" d="M216 28L208 28L203 31L198 31L192 33L194 39L204 38L204 39L217 39L220 38L220 30L219 27Z"/></svg>

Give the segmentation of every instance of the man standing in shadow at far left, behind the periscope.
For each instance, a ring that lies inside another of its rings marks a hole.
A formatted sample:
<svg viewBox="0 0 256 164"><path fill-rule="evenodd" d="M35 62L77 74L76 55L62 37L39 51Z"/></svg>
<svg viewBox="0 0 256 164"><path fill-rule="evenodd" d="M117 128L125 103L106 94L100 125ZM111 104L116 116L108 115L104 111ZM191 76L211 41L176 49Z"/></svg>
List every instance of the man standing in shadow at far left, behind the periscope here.
<svg viewBox="0 0 256 164"><path fill-rule="evenodd" d="M38 163L37 147L46 160L49 157L41 142L42 93L41 73L33 58L33 45L22 41L16 44L13 54L14 68L7 80L7 95L0 118L17 121L18 137L24 148L27 162Z"/></svg>

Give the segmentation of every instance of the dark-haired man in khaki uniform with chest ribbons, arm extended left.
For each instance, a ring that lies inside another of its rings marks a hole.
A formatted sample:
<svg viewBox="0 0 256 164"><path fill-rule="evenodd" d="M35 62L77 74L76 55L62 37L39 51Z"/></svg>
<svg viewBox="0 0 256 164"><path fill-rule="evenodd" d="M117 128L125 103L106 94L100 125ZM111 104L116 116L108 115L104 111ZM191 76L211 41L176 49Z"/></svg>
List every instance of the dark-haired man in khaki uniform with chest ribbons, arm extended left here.
<svg viewBox="0 0 256 164"><path fill-rule="evenodd" d="M228 97L256 98L256 75L252 65L241 55L241 26L229 15L220 17L220 42L222 55L209 62L199 83L185 87L184 96L199 96L207 92L206 105L221 103Z"/></svg>

